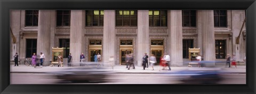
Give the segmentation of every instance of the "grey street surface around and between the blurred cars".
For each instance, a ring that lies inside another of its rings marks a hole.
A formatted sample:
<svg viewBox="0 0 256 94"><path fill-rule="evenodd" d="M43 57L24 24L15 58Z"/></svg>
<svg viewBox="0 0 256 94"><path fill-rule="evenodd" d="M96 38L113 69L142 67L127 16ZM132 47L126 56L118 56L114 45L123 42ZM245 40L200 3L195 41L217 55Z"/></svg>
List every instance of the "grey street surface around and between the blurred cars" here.
<svg viewBox="0 0 256 94"><path fill-rule="evenodd" d="M217 84L246 84L245 73L227 73ZM107 77L107 82L71 83L45 73L11 73L11 84L183 84L175 77L161 73L115 73Z"/></svg>

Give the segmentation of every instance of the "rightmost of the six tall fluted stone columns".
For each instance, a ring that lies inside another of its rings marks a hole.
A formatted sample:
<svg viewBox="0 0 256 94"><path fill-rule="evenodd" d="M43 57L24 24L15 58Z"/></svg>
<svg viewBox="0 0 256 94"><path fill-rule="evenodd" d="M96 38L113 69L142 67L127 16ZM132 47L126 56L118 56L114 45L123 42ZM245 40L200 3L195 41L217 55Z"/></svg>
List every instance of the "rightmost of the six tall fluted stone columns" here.
<svg viewBox="0 0 256 94"><path fill-rule="evenodd" d="M213 10L202 10L202 49L205 61L215 60Z"/></svg>

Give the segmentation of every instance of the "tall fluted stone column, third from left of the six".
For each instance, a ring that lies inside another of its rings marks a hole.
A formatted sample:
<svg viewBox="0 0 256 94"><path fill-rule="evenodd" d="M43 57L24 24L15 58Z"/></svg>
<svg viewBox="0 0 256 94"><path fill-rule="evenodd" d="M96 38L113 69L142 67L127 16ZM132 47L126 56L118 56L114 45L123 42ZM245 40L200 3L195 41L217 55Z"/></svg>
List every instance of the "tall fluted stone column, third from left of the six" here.
<svg viewBox="0 0 256 94"><path fill-rule="evenodd" d="M111 56L115 57L115 10L104 10L102 61L108 62ZM116 61L116 59L114 59ZM113 62L115 63L115 62ZM114 65L114 64L113 64Z"/></svg>

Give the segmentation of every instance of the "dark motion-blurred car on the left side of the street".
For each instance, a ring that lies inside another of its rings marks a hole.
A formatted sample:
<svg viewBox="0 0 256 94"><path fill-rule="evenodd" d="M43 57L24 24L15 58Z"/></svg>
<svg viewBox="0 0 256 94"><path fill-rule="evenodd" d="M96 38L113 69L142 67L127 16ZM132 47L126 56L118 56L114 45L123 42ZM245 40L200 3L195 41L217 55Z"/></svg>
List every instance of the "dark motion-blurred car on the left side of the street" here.
<svg viewBox="0 0 256 94"><path fill-rule="evenodd" d="M48 74L53 74L57 76L58 79L63 81L71 82L90 82L90 81L107 81L109 74L114 73L104 67L73 67L57 72L49 72Z"/></svg>

